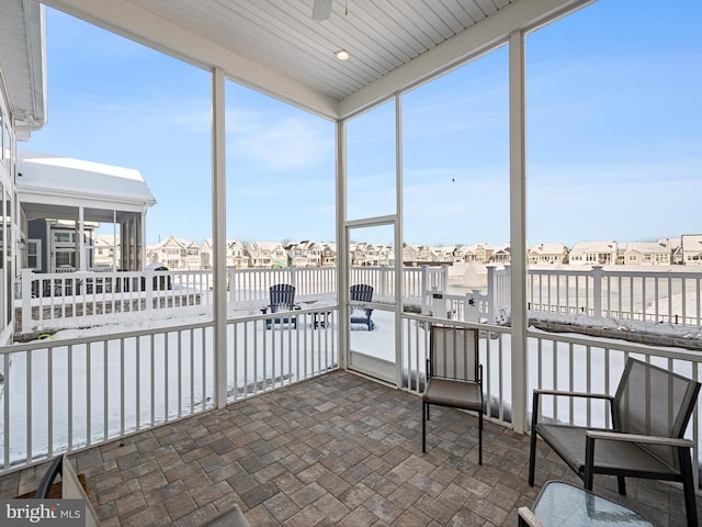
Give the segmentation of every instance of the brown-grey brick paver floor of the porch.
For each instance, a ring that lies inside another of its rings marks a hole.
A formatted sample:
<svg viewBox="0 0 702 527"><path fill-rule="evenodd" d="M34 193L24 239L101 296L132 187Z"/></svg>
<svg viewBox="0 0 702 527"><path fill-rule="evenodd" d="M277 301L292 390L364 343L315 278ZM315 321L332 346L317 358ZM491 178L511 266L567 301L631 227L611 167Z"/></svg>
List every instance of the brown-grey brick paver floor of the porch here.
<svg viewBox="0 0 702 527"><path fill-rule="evenodd" d="M103 526L200 525L238 504L253 526L517 525L550 480L580 484L548 448L526 483L529 436L432 408L421 453L419 399L335 371L71 455ZM0 478L0 495L37 486L47 464ZM682 492L614 478L595 489L655 525L684 524ZM698 500L702 514L702 501Z"/></svg>

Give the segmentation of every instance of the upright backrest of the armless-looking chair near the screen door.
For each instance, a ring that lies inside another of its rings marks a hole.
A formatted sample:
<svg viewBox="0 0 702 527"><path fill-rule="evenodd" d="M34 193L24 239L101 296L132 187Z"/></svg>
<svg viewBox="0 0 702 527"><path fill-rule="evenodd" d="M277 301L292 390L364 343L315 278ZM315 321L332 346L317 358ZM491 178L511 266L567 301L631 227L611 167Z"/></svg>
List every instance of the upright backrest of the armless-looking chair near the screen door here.
<svg viewBox="0 0 702 527"><path fill-rule="evenodd" d="M430 377L478 381L480 356L477 329L431 326L429 347Z"/></svg>

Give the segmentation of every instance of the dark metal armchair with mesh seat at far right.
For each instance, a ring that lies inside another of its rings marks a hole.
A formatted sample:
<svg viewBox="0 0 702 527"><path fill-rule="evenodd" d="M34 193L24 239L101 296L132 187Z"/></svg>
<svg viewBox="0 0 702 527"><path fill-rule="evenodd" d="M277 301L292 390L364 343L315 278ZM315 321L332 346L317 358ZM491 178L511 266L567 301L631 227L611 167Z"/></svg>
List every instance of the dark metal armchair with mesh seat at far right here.
<svg viewBox="0 0 702 527"><path fill-rule="evenodd" d="M529 456L529 484L534 485L536 435L592 490L595 474L616 475L626 494L625 476L682 483L688 525L698 525L691 449L682 436L700 392L700 383L638 360L629 359L614 396L534 390ZM611 408L611 429L596 429L539 419L542 395L602 399Z"/></svg>

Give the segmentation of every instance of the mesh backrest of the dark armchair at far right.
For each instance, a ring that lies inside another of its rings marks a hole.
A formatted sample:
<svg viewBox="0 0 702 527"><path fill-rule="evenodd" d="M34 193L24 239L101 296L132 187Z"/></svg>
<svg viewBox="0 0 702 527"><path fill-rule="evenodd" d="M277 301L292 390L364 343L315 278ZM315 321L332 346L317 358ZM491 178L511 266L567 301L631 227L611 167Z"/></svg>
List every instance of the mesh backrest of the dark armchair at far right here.
<svg viewBox="0 0 702 527"><path fill-rule="evenodd" d="M614 429L682 438L699 392L699 382L630 358L614 395ZM673 449L652 445L644 448L678 467Z"/></svg>

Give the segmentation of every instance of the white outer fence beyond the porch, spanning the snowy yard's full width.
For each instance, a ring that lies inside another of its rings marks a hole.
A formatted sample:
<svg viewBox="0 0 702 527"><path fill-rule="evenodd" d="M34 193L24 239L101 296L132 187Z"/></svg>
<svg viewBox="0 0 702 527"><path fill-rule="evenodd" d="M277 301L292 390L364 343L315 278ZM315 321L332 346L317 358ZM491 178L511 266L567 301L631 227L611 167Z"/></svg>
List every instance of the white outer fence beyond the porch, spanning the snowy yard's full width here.
<svg viewBox="0 0 702 527"><path fill-rule="evenodd" d="M487 266L487 287L463 295L448 294L448 267L405 268L405 303L421 313L450 319L501 324L510 317L508 266ZM374 301L390 300L394 269L355 267L351 283L369 283ZM212 271L61 272L23 271L18 330L30 333L49 319L110 315L165 307L210 305ZM269 289L292 283L296 298L336 294L336 268L227 270L228 302L269 300ZM655 269L553 269L528 271L528 310L534 316L567 314L611 317L678 326L702 326L702 272Z"/></svg>

